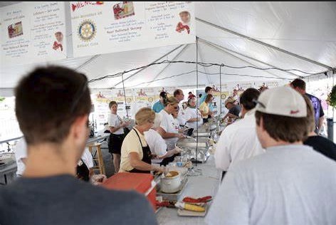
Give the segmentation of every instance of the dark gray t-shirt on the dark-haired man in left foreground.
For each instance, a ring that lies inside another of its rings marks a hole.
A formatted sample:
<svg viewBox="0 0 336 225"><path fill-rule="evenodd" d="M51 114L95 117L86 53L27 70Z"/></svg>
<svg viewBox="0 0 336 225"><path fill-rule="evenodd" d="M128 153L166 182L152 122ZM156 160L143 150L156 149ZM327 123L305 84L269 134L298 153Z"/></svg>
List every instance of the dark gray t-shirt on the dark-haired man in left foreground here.
<svg viewBox="0 0 336 225"><path fill-rule="evenodd" d="M142 195L95 187L61 175L19 178L0 187L1 225L157 224Z"/></svg>

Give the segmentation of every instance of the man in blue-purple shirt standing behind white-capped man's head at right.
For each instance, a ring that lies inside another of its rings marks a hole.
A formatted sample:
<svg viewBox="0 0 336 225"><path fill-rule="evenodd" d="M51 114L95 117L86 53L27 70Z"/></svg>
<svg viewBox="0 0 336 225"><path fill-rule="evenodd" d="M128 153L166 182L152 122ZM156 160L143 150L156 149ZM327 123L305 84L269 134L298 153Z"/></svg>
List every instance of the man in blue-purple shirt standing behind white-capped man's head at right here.
<svg viewBox="0 0 336 225"><path fill-rule="evenodd" d="M324 115L325 112L323 112L323 108L321 105L321 100L315 97L314 95L310 95L306 93L305 91L305 81L302 79L295 79L290 83L290 87L294 88L298 93L301 95L307 95L308 98L310 98L310 102L313 105L314 111L315 111L315 132L317 135L320 134L320 131L323 126L323 121L324 121Z"/></svg>

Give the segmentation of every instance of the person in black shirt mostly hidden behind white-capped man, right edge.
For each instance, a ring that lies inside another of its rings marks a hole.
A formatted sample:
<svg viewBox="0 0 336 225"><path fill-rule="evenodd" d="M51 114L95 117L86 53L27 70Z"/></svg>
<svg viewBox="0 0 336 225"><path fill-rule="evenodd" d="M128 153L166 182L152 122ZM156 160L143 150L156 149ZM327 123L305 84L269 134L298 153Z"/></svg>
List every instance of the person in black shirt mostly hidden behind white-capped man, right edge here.
<svg viewBox="0 0 336 225"><path fill-rule="evenodd" d="M303 95L305 98L305 103L307 104L307 117L308 117L308 138L303 142L304 145L308 145L313 147L314 150L320 152L322 155L329 157L336 161L336 145L331 140L322 137L320 135L316 135L315 133L315 113L312 103L310 102L310 98L308 96Z"/></svg>

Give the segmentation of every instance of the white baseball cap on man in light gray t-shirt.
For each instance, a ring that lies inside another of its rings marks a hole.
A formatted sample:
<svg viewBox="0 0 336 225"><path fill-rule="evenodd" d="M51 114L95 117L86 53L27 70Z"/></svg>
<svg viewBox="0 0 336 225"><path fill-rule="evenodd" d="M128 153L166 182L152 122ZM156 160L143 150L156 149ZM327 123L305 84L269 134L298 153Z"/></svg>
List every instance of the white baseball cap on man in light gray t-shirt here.
<svg viewBox="0 0 336 225"><path fill-rule="evenodd" d="M307 105L303 96L289 87L271 88L259 96L256 110L272 115L307 117Z"/></svg>

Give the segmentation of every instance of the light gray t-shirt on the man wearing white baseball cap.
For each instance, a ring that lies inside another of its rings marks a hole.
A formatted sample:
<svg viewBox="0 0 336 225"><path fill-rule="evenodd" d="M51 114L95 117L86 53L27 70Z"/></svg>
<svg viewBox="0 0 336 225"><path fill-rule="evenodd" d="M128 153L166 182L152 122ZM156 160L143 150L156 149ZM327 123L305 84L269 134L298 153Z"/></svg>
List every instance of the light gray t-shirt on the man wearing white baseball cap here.
<svg viewBox="0 0 336 225"><path fill-rule="evenodd" d="M304 145L269 147L230 167L208 224L335 225L336 162Z"/></svg>

